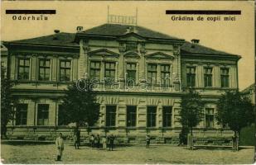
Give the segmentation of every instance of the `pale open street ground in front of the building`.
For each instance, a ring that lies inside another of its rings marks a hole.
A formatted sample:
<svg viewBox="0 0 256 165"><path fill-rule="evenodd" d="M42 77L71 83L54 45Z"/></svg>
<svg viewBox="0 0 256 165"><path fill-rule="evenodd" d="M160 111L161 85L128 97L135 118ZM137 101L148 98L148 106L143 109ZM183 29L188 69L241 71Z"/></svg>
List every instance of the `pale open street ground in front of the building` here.
<svg viewBox="0 0 256 165"><path fill-rule="evenodd" d="M176 146L130 146L114 151L65 145L61 162L56 162L54 144L1 145L2 163L253 163L254 148L231 150L189 150Z"/></svg>

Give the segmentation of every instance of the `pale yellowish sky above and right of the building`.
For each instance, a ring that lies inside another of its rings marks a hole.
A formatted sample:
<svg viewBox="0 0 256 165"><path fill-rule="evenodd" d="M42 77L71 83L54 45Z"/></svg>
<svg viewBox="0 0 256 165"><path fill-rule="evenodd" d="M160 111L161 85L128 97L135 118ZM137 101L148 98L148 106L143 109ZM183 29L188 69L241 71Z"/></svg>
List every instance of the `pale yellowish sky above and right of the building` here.
<svg viewBox="0 0 256 165"><path fill-rule="evenodd" d="M239 54L239 89L254 83L254 1L3 1L1 40L51 35L56 29L75 33L77 26L84 30L99 26L107 23L108 6L109 14L121 16L136 16L137 8L138 26L185 40L199 39L200 45ZM55 9L56 15L48 15L47 21L18 21L5 14L6 9ZM207 16L205 21L172 21L166 10L241 10L241 15L235 16L235 21L223 21L223 17L207 21Z"/></svg>

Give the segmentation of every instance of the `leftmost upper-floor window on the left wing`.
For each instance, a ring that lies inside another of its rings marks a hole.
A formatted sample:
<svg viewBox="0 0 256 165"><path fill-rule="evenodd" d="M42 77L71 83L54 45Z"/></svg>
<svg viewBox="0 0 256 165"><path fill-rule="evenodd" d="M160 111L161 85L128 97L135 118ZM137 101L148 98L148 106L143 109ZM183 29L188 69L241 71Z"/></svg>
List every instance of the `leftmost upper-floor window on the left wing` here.
<svg viewBox="0 0 256 165"><path fill-rule="evenodd" d="M28 80L29 79L29 59L19 59L18 75L17 79Z"/></svg>

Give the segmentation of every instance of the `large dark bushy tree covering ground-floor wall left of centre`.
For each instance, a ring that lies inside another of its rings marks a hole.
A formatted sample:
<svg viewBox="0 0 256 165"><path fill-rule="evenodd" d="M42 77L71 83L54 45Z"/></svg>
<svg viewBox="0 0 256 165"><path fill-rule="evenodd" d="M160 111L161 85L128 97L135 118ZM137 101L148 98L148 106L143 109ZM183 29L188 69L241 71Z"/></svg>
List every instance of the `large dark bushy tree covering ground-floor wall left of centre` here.
<svg viewBox="0 0 256 165"><path fill-rule="evenodd" d="M93 91L92 85L88 79L80 79L65 90L60 113L64 124L75 123L78 129L80 125L92 126L99 119L97 92Z"/></svg>

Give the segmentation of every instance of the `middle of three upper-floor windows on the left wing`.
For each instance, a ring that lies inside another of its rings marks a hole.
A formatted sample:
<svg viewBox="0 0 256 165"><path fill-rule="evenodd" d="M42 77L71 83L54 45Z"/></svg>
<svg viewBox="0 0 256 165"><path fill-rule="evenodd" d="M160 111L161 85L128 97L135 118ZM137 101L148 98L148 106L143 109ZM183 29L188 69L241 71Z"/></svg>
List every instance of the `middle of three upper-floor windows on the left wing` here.
<svg viewBox="0 0 256 165"><path fill-rule="evenodd" d="M50 59L39 60L39 80L50 80Z"/></svg>

